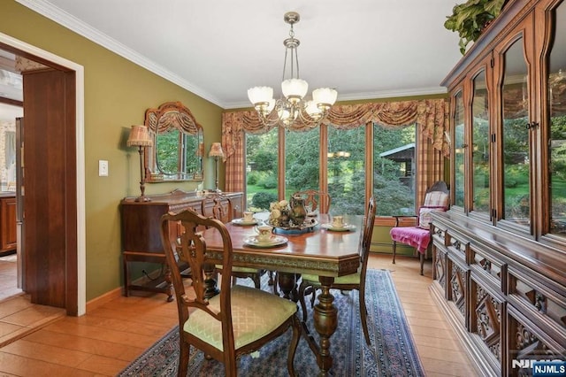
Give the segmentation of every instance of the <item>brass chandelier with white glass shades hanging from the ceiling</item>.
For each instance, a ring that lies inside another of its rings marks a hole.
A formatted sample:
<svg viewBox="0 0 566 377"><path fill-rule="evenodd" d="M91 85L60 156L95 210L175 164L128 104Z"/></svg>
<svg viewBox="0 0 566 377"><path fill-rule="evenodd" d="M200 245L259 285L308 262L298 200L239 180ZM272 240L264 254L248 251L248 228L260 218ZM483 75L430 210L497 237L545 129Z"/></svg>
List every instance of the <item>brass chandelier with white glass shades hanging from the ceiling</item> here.
<svg viewBox="0 0 566 377"><path fill-rule="evenodd" d="M254 87L248 90L249 101L264 126L272 127L279 124L287 129L293 128L295 123L302 123L307 127L317 127L328 115L328 110L336 102L338 93L333 88L317 88L312 91L312 100L304 96L309 90L309 84L299 78L299 58L297 47L299 40L294 37L293 25L301 19L297 12L287 12L283 17L291 25L289 38L283 41L285 45L285 62L283 64L283 82L281 90L283 97L275 100L273 88ZM289 70L287 75L287 58Z"/></svg>

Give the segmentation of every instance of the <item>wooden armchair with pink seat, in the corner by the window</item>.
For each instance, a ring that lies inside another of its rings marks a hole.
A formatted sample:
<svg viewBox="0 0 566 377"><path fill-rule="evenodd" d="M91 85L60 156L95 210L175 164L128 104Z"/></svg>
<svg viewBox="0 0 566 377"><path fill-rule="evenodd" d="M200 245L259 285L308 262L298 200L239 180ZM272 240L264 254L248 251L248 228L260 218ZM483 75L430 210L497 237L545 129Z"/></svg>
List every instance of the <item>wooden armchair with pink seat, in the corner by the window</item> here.
<svg viewBox="0 0 566 377"><path fill-rule="evenodd" d="M426 190L424 203L418 209L418 216L394 216L395 226L389 234L393 242L393 263L397 254L397 242L405 243L417 250L420 259L421 275L423 274L424 257L431 243L431 212L444 212L448 209L448 188L444 181L436 181ZM398 227L399 219L416 218L416 227Z"/></svg>

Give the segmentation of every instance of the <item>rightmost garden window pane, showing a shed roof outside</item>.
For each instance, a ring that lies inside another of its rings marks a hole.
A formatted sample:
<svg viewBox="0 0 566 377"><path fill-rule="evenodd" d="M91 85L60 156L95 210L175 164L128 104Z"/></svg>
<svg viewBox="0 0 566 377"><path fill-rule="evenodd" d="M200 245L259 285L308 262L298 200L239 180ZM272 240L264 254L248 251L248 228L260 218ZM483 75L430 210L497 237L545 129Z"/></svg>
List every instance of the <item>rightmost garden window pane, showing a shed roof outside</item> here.
<svg viewBox="0 0 566 377"><path fill-rule="evenodd" d="M373 196L378 215L415 214L416 127L373 126Z"/></svg>

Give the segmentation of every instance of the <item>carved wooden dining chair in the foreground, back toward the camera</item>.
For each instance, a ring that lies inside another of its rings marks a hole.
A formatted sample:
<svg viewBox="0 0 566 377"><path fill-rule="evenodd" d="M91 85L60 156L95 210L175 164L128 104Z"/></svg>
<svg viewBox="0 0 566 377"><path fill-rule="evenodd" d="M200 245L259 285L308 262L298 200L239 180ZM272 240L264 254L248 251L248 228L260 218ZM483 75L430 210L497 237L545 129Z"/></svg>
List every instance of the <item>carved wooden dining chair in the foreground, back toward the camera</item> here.
<svg viewBox="0 0 566 377"><path fill-rule="evenodd" d="M177 238L169 233L170 221L180 222L185 229L180 237L180 249ZM204 296L204 271L205 265L210 265L210 254L199 227L216 228L224 245L222 269L226 274L220 281L220 293L210 299ZM293 338L289 344L287 370L294 376L294 353L301 335L297 306L263 290L231 284L232 240L222 221L205 218L191 209L178 214L167 213L161 218L161 241L169 265L176 265L176 256L190 265L195 289L195 298L191 298L193 295L185 291L179 270L171 268L179 313L178 376L187 375L191 346L224 363L226 376L236 376L237 358L259 350L266 342L286 333L289 327L293 328Z"/></svg>

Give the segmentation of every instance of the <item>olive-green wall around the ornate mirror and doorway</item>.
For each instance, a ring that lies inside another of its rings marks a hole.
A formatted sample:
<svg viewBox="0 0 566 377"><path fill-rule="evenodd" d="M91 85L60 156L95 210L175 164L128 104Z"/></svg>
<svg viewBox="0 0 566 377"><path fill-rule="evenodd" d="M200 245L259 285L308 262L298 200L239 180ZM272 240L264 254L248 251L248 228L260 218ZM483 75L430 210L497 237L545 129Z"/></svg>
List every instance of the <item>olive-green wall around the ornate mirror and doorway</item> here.
<svg viewBox="0 0 566 377"><path fill-rule="evenodd" d="M146 109L180 101L203 125L208 151L220 141L222 109L15 1L0 1L0 14L0 33L84 66L88 301L122 285L119 203L140 192L139 154L126 147L130 126L143 124ZM108 177L98 176L100 159L109 161ZM204 188L214 186L213 168L213 160L205 158ZM195 187L150 183L146 194Z"/></svg>

